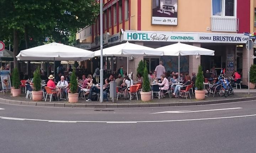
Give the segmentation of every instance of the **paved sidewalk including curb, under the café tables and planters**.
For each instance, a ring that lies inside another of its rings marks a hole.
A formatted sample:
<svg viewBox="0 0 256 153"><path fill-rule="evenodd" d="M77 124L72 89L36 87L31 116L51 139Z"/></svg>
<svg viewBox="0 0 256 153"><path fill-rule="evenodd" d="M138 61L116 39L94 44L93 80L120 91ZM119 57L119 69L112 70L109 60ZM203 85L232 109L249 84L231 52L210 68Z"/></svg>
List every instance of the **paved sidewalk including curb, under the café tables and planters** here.
<svg viewBox="0 0 256 153"><path fill-rule="evenodd" d="M100 103L98 101L86 102L79 98L78 103L68 103L66 100L62 101L51 101L49 98L47 101L34 102L31 99L26 99L25 94L22 94L20 97L12 97L10 93L3 94L0 93L0 102L1 103L10 103L10 104L21 104L21 105L32 105L32 106L49 106L49 107L92 107L92 108L127 108L127 107L164 107L164 106L187 106L187 105L202 105L202 104L215 104L215 103L226 103L226 102L237 102L237 101L246 101L246 100L256 100L256 90L250 90L250 95L247 93L246 89L235 89L235 94L229 97L220 97L216 95L213 97L213 94L206 96L205 100L196 100L194 95L191 95L191 99L186 98L169 98L169 95L165 95L165 98L153 98L149 102L142 102L139 98L137 101L136 98L133 100L124 100L114 98L114 103L112 101ZM207 95L207 94L206 94ZM111 100L111 98L109 98Z"/></svg>

